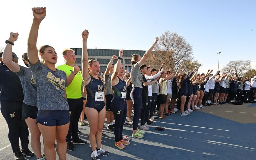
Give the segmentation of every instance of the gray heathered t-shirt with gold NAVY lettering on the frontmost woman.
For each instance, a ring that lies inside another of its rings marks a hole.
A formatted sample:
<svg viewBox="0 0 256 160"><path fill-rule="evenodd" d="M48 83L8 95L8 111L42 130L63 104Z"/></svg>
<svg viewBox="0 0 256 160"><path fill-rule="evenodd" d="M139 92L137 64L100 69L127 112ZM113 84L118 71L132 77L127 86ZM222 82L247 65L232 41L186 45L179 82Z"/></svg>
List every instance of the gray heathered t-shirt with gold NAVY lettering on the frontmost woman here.
<svg viewBox="0 0 256 160"><path fill-rule="evenodd" d="M30 69L37 83L38 110L69 110L65 97L66 73L58 69L53 71L40 61L35 65L30 64Z"/></svg>

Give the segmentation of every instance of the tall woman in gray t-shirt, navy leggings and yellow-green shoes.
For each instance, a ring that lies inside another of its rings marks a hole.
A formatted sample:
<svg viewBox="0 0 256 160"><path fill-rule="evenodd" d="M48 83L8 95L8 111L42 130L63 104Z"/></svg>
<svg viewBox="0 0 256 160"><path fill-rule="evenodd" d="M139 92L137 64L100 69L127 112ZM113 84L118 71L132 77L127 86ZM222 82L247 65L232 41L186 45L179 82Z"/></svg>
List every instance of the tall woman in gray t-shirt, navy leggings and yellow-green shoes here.
<svg viewBox="0 0 256 160"><path fill-rule="evenodd" d="M144 132L138 130L139 125L139 115L141 114L142 107L142 73L140 70L140 66L146 61L146 59L150 56L155 44L158 42L158 37L155 37L155 42L149 48L149 50L144 53L143 57L138 54L133 54L131 63L131 81L132 81L132 91L131 98L133 101L134 108L134 117L133 117L133 133L132 137L142 138Z"/></svg>

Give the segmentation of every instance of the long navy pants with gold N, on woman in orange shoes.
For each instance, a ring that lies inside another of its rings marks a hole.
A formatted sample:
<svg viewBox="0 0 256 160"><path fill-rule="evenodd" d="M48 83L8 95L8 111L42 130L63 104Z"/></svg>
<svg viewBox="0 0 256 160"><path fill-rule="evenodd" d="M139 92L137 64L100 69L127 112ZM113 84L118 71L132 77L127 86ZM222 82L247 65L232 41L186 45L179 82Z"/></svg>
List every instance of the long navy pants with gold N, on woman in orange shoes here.
<svg viewBox="0 0 256 160"><path fill-rule="evenodd" d="M115 118L115 141L119 142L123 139L123 124L127 113L126 99L124 98L119 100L114 98L111 103L111 108Z"/></svg>

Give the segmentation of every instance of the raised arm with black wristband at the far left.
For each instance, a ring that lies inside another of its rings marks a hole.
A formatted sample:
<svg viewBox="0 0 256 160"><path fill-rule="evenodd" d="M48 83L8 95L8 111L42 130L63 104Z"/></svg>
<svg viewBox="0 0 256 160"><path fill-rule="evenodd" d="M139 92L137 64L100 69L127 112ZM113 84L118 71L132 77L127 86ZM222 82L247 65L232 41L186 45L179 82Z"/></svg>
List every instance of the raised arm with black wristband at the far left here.
<svg viewBox="0 0 256 160"><path fill-rule="evenodd" d="M16 41L18 39L19 34L18 33L10 33L10 38L8 39L8 41L10 41L11 43L14 43L14 41ZM3 53L3 57L2 57L2 61L5 63L5 65L11 69L13 72L20 72L20 66L15 63L12 62L12 44L7 43L4 53Z"/></svg>

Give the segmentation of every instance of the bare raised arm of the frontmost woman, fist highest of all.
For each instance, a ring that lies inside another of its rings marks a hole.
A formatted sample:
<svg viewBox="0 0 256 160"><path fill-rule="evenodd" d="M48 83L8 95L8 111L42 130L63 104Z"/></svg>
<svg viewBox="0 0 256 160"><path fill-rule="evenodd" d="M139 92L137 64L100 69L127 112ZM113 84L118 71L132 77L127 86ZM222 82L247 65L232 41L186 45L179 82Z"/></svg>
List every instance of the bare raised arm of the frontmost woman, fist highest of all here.
<svg viewBox="0 0 256 160"><path fill-rule="evenodd" d="M33 23L29 32L28 40L27 40L27 56L29 62L34 65L36 64L38 59L38 51L37 51L37 37L38 37L38 29L41 21L46 16L46 8L44 7L36 7L32 8L33 11Z"/></svg>

